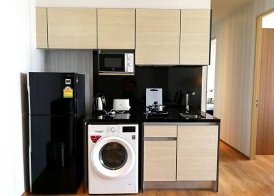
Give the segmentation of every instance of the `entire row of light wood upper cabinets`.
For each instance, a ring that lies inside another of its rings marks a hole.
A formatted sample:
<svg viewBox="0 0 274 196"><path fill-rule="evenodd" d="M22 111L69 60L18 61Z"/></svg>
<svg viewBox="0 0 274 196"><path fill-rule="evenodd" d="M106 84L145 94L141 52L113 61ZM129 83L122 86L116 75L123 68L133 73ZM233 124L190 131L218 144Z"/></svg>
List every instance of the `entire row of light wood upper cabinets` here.
<svg viewBox="0 0 274 196"><path fill-rule="evenodd" d="M211 10L36 8L37 48L135 49L138 65L210 64L210 27Z"/></svg>

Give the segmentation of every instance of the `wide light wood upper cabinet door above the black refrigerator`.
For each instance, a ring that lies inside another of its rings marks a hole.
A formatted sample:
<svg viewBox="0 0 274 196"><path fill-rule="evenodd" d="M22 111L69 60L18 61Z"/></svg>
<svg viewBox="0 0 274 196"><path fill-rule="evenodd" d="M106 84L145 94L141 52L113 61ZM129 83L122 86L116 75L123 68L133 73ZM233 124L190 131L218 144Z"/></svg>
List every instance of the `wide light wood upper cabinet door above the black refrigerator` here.
<svg viewBox="0 0 274 196"><path fill-rule="evenodd" d="M95 8L47 8L49 48L96 49Z"/></svg>

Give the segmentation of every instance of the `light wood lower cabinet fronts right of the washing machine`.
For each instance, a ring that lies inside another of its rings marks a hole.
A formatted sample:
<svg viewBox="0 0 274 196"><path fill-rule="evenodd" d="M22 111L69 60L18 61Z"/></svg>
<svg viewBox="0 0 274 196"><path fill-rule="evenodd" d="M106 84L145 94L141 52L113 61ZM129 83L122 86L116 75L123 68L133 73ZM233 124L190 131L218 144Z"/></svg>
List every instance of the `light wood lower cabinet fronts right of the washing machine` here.
<svg viewBox="0 0 274 196"><path fill-rule="evenodd" d="M219 125L145 125L144 181L216 182Z"/></svg>

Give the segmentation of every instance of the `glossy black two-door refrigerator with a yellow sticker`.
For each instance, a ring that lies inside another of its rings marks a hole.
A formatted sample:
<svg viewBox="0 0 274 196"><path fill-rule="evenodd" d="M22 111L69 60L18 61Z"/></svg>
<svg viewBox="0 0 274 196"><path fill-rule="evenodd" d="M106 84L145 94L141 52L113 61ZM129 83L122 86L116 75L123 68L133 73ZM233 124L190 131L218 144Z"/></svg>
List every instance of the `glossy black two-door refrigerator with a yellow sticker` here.
<svg viewBox="0 0 274 196"><path fill-rule="evenodd" d="M30 72L27 79L31 191L76 193L84 172L85 77Z"/></svg>

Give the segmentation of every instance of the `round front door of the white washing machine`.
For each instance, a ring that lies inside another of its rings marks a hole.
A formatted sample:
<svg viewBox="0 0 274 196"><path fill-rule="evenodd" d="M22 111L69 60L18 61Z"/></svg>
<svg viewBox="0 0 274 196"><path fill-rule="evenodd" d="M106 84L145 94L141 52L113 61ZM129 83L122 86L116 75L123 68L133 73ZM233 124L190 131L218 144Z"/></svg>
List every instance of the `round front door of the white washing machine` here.
<svg viewBox="0 0 274 196"><path fill-rule="evenodd" d="M90 162L95 171L108 179L119 179L132 171L135 153L123 138L111 136L99 140L92 149Z"/></svg>

